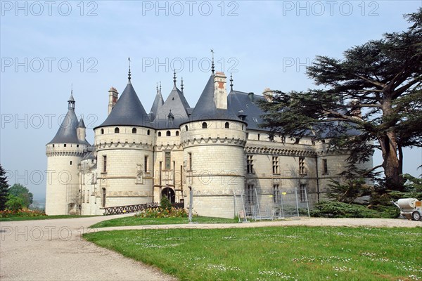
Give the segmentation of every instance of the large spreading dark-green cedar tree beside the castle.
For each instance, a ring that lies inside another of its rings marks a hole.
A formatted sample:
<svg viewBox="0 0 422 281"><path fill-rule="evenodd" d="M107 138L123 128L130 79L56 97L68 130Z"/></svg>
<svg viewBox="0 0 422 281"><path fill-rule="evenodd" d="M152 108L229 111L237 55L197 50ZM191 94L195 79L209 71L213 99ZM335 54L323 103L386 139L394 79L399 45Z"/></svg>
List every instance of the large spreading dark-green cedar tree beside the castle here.
<svg viewBox="0 0 422 281"><path fill-rule="evenodd" d="M382 167L386 186L403 190L402 148L422 147L422 8L405 17L408 30L354 46L343 60L318 56L307 75L324 89L276 91L260 103L261 126L271 136L329 139L329 149L350 152L355 175L381 150L383 163L373 170Z"/></svg>

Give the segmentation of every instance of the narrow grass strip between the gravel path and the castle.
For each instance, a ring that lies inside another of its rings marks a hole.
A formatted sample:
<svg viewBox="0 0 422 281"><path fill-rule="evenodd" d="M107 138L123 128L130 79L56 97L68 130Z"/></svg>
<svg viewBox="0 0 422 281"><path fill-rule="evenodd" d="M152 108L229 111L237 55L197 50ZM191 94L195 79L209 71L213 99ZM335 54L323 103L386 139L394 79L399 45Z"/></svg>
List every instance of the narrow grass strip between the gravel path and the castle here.
<svg viewBox="0 0 422 281"><path fill-rule="evenodd" d="M211 218L207 216L194 216L193 223L237 223L238 219L234 218ZM108 221L90 226L90 228L108 228L111 226L148 226L158 224L184 224L188 223L188 218L141 218L135 216L127 216L124 218L113 218Z"/></svg>

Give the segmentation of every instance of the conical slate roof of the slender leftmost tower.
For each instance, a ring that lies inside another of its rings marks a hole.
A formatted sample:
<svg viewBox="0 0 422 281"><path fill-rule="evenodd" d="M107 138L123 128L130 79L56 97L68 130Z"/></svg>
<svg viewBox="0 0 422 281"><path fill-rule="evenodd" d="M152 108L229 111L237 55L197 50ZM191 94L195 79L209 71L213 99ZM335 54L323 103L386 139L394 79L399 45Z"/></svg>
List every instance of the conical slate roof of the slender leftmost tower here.
<svg viewBox="0 0 422 281"><path fill-rule="evenodd" d="M54 136L54 138L47 144L79 143L79 139L77 138L77 133L76 133L77 124L78 124L78 121L75 114L75 110L69 107L68 113L63 119L63 122L56 133L56 136Z"/></svg>

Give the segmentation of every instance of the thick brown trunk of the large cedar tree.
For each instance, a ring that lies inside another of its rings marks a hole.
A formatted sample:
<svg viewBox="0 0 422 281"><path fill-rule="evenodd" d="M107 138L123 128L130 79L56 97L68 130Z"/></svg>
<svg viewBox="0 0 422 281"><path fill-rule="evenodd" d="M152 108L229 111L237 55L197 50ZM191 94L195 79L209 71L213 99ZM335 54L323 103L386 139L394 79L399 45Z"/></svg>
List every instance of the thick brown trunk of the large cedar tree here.
<svg viewBox="0 0 422 281"><path fill-rule="evenodd" d="M383 168L386 179L386 187L389 190L403 190L402 178L400 177L399 158L397 157L397 143L395 132L389 131L379 138L383 152Z"/></svg>

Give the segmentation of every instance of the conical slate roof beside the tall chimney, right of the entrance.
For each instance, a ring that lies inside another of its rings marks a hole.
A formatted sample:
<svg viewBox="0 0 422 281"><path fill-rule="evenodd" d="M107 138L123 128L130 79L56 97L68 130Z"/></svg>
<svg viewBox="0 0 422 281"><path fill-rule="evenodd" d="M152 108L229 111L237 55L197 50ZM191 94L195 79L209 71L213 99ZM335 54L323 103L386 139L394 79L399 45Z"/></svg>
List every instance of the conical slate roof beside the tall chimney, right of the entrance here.
<svg viewBox="0 0 422 281"><path fill-rule="evenodd" d="M195 109L191 114L191 121L199 120L212 120L212 119L224 119L224 120L236 120L239 121L235 112L232 112L230 107L227 110L219 109L216 107L214 102L214 74L211 74L207 84L200 95L198 103L196 103Z"/></svg>

